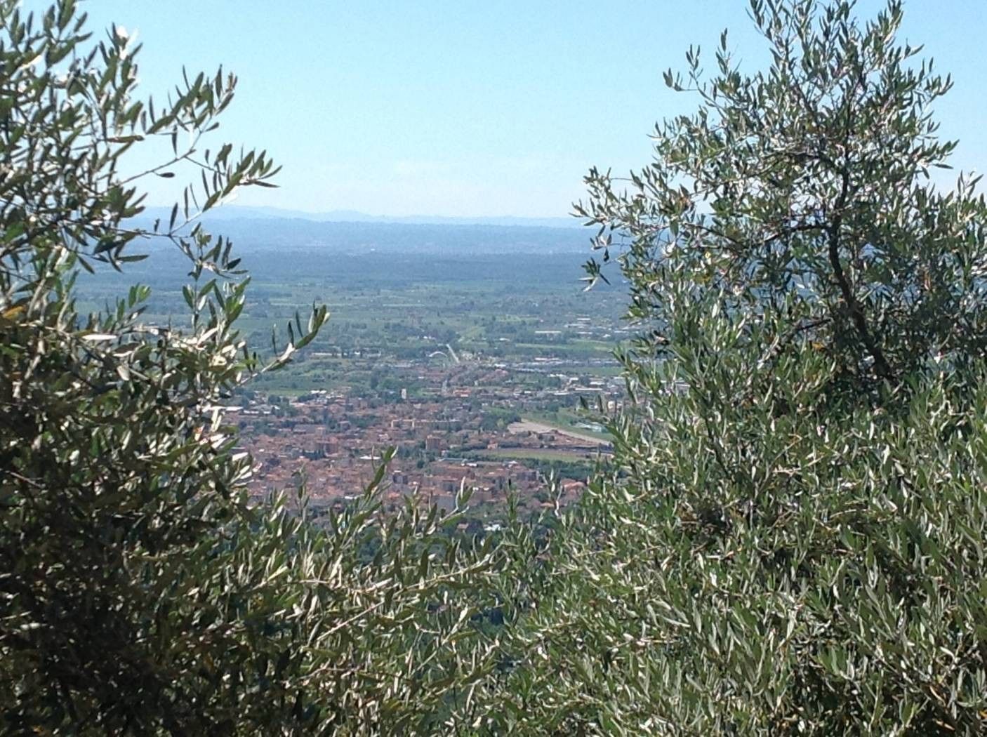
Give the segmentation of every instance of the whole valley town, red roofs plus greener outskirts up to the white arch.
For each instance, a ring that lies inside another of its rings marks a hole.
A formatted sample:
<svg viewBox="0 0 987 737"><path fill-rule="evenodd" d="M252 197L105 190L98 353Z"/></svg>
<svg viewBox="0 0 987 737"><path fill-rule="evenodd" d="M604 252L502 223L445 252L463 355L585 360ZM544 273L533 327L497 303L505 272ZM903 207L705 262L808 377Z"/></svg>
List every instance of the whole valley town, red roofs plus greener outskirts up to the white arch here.
<svg viewBox="0 0 987 737"><path fill-rule="evenodd" d="M390 401L348 389L314 390L290 399L255 397L227 411L255 462L255 496L304 482L312 505L343 503L373 479L385 449L394 448L385 510L408 496L449 510L466 488L474 516L495 518L511 490L532 511L571 501L609 453L602 428L578 422L576 410L580 398L614 409L620 382L561 373L559 363L404 363L394 368L415 381L415 397L407 388ZM517 375L546 378L554 388L528 388ZM550 408L573 423L534 418Z"/></svg>

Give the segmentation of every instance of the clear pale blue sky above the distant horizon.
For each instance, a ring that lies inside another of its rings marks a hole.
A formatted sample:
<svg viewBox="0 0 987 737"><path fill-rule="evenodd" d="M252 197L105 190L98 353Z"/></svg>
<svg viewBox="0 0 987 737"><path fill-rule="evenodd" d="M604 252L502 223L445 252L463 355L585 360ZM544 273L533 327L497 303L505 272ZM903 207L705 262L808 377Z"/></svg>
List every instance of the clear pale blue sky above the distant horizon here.
<svg viewBox="0 0 987 737"><path fill-rule="evenodd" d="M860 13L880 5L862 0ZM654 121L691 111L661 81L684 66L689 43L712 51L729 28L742 58L764 57L745 0L83 7L94 26L138 32L146 93L167 90L183 64L234 71L237 100L213 140L266 148L284 167L280 188L239 203L313 212L563 216L590 166L640 168ZM960 139L954 166L987 170L982 0L911 0L905 13L903 36L956 82L938 109L943 134ZM170 196L154 189L151 203Z"/></svg>

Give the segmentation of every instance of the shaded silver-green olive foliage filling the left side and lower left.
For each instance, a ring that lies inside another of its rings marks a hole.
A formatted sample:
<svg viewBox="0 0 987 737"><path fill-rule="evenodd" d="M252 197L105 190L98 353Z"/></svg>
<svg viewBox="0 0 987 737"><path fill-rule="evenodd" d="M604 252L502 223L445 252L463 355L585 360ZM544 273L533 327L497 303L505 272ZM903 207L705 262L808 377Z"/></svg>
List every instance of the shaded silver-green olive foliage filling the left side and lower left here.
<svg viewBox="0 0 987 737"><path fill-rule="evenodd" d="M492 667L467 647L490 551L443 534L455 515L381 526L379 478L318 528L248 504L218 405L327 313L267 360L235 327L247 278L195 219L276 171L205 149L235 79L186 78L155 107L122 30L91 38L71 0L18 5L0 0L0 731L441 731L447 695ZM142 147L167 153L135 174ZM169 222L136 228L146 178L189 169ZM80 269L155 242L189 258L187 324L148 325L141 286L77 312Z"/></svg>

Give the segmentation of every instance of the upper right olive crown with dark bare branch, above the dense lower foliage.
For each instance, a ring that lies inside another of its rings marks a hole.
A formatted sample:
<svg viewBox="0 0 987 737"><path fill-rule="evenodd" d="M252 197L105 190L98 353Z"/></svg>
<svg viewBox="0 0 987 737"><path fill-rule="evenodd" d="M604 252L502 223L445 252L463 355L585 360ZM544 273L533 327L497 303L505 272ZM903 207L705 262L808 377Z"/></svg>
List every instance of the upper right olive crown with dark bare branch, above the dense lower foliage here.
<svg viewBox="0 0 987 737"><path fill-rule="evenodd" d="M819 343L856 383L894 384L982 357L983 211L976 180L930 182L955 146L932 117L949 77L894 41L900 3L864 27L853 7L751 3L770 69L741 74L724 32L707 80L690 49L665 80L699 111L656 126L625 191L591 173L580 212L628 236L635 317L666 322L664 285L688 280L733 312L783 315L786 346Z"/></svg>

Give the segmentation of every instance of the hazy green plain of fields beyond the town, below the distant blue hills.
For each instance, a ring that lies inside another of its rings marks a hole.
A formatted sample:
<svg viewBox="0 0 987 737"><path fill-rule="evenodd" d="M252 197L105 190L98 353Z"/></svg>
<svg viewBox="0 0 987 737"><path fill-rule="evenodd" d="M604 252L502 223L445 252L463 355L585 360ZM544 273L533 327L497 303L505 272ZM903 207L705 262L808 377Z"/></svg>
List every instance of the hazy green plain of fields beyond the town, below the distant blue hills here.
<svg viewBox="0 0 987 737"><path fill-rule="evenodd" d="M610 355L617 345L612 335L622 326L625 299L614 290L582 291L580 263L577 254L320 258L314 249L256 249L244 255L252 282L239 321L253 349L269 354L271 327L283 342L286 323L313 302L327 304L331 317L297 360L252 388L287 397L346 388L381 402L394 401L402 390L410 398L434 395L434 382L427 386L418 375L422 368L451 366L449 346L464 364L517 367L504 379L505 388L565 388L551 374L580 384L612 379L619 372ZM151 286L147 322L167 324L187 313L187 272L187 264L167 251L128 271L129 281ZM119 281L112 273L83 277L85 307L104 308ZM545 339L545 332L554 334ZM538 365L544 368L524 368ZM486 381L482 374L467 379ZM538 411L547 416L539 419L573 429L569 416L551 415L577 399L546 403Z"/></svg>

